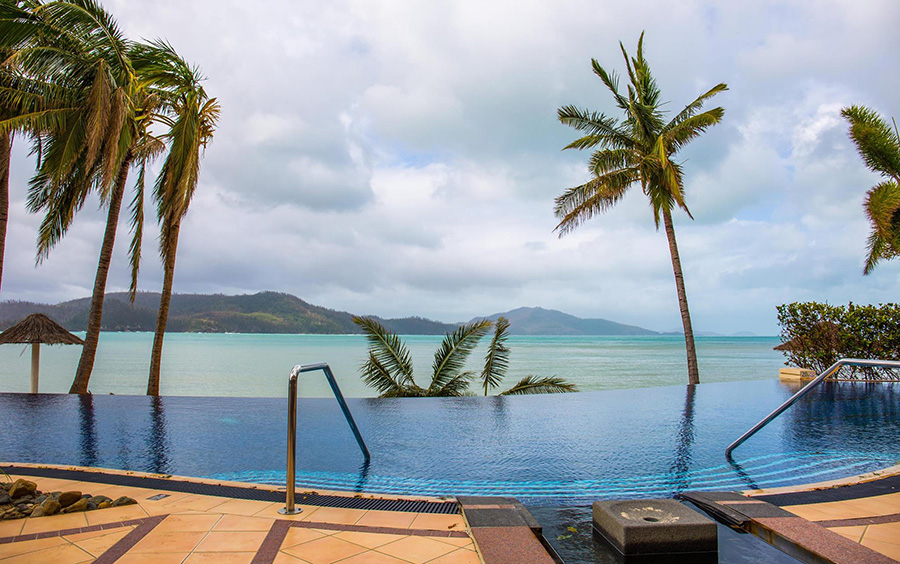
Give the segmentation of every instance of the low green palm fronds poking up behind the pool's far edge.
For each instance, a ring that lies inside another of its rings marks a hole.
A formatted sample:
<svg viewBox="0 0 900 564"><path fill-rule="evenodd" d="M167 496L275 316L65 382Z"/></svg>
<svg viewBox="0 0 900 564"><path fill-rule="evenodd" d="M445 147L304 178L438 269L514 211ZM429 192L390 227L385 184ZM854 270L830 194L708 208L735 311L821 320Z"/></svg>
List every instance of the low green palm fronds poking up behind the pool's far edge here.
<svg viewBox="0 0 900 564"><path fill-rule="evenodd" d="M463 371L466 359L491 328L491 321L482 319L447 333L434 353L431 384L419 386L413 378L412 358L400 337L369 317L354 317L353 322L362 328L369 341L369 358L363 363L363 382L375 388L379 397L458 397L471 395L469 384L475 373ZM489 388L499 385L509 364L506 341L509 323L504 318L497 321L497 329L485 356L481 376L485 395ZM499 395L550 394L577 391L574 385L555 376L540 378L526 376L515 386Z"/></svg>

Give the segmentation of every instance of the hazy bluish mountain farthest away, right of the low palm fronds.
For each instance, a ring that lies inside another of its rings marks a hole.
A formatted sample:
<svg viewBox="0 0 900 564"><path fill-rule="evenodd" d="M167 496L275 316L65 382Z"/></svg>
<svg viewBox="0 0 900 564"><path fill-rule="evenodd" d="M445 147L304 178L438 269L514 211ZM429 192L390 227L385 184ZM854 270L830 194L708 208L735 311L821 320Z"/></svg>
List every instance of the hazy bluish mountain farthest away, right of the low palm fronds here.
<svg viewBox="0 0 900 564"><path fill-rule="evenodd" d="M541 307L520 307L506 313L495 313L488 319L503 316L509 320L512 335L659 335L634 325L623 325L607 319L581 319L568 313Z"/></svg>

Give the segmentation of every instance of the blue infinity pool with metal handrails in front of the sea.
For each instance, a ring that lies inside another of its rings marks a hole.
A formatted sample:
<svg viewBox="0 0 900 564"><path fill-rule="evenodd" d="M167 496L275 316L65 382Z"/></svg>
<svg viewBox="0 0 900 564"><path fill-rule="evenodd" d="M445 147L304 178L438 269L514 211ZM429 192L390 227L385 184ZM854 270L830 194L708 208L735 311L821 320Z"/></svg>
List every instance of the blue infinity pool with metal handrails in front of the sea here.
<svg viewBox="0 0 900 564"><path fill-rule="evenodd" d="M795 391L748 381L549 396L301 399L298 487L513 495L532 506L860 474L900 460L900 385L827 383L724 458ZM285 481L286 401L0 394L0 460Z"/></svg>

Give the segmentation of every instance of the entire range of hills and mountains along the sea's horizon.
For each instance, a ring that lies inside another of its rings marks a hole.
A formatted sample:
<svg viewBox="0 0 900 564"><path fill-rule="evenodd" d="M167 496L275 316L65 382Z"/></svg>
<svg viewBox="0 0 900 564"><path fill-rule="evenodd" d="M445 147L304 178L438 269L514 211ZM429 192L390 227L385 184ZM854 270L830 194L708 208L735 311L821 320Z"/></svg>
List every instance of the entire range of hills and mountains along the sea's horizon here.
<svg viewBox="0 0 900 564"><path fill-rule="evenodd" d="M107 294L103 307L104 331L153 331L159 294L141 292L132 305L124 292ZM23 301L0 302L0 329L6 329L32 313L50 316L69 331L87 327L90 298L59 304ZM581 319L561 311L522 307L500 316L510 320L513 335L659 335L656 331L606 319ZM358 334L353 314L307 303L280 292L240 296L175 294L169 312L170 332L183 333L316 333ZM377 318L402 335L443 335L460 323L441 323L422 317Z"/></svg>

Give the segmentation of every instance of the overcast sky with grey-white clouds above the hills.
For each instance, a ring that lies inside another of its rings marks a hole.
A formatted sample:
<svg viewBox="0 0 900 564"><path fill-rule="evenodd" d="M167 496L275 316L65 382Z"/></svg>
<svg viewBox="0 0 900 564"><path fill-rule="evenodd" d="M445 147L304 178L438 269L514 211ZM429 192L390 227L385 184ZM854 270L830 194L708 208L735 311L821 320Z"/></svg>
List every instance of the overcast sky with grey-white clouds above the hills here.
<svg viewBox="0 0 900 564"><path fill-rule="evenodd" d="M680 329L665 234L639 188L558 238L553 199L589 178L556 110L615 114L591 58L645 56L677 111L719 82L722 124L680 155L675 214L694 328L777 332L775 306L897 300L862 275L862 165L840 109L900 117L900 3L107 0L162 37L222 105L182 229L177 293L277 290L333 309L468 320L519 306ZM710 107L712 107L712 105ZM90 200L35 267L34 163L14 145L2 299L90 295ZM108 290L128 287L127 213ZM148 214L150 216L150 214ZM159 291L154 225L140 288Z"/></svg>

